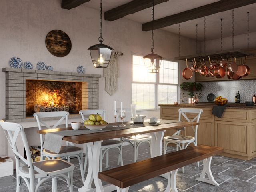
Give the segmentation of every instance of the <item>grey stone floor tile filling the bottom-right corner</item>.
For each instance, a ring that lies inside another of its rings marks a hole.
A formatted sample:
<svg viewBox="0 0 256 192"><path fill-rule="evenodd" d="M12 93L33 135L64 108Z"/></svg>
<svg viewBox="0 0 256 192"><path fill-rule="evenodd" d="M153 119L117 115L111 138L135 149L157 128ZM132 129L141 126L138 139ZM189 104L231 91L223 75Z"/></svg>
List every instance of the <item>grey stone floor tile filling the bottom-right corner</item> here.
<svg viewBox="0 0 256 192"><path fill-rule="evenodd" d="M256 184L231 178L220 185L222 188L237 192L254 192Z"/></svg>

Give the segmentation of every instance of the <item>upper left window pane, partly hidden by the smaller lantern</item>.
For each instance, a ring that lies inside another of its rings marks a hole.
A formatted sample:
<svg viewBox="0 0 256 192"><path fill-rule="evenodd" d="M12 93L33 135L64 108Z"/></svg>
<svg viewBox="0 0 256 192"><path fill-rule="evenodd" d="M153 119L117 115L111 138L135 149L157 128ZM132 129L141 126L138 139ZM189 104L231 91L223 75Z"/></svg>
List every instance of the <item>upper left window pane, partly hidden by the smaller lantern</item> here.
<svg viewBox="0 0 256 192"><path fill-rule="evenodd" d="M156 82L156 74L149 73L148 68L144 66L142 56L132 56L132 80L137 82Z"/></svg>

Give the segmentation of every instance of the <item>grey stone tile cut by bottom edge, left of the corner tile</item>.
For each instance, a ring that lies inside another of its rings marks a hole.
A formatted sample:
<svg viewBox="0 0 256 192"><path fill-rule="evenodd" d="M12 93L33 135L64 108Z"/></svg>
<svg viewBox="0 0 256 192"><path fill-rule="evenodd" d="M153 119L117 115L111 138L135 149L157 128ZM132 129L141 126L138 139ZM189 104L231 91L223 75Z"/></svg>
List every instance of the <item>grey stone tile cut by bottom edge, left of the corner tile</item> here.
<svg viewBox="0 0 256 192"><path fill-rule="evenodd" d="M230 190L202 182L186 190L186 192L230 192Z"/></svg>

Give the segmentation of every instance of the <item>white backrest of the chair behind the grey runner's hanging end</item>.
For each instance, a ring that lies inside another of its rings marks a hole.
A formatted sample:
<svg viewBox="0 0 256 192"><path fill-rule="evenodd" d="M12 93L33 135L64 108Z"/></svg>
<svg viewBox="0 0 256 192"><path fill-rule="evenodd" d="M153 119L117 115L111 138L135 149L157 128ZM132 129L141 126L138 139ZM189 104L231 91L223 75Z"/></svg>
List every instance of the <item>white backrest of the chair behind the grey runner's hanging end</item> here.
<svg viewBox="0 0 256 192"><path fill-rule="evenodd" d="M63 120L65 120L65 126L68 127L68 115L69 112L66 111L52 111L52 112L37 112L34 113L34 118L36 118L36 122L38 124L39 130L42 130L41 124L46 126L48 129L54 129L56 128ZM56 122L52 127L50 127L46 122L42 121L42 118L47 117L60 117L60 120ZM40 134L40 142L41 142L41 149L44 144L44 137L42 134Z"/></svg>

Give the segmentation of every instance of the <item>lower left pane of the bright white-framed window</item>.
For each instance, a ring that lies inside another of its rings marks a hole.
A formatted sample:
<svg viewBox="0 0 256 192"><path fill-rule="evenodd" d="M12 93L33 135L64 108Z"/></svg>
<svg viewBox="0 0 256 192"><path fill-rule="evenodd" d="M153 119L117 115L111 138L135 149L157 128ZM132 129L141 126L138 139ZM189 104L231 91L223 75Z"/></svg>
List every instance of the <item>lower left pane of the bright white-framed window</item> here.
<svg viewBox="0 0 256 192"><path fill-rule="evenodd" d="M137 104L137 109L155 108L155 85L132 83L132 103Z"/></svg>

